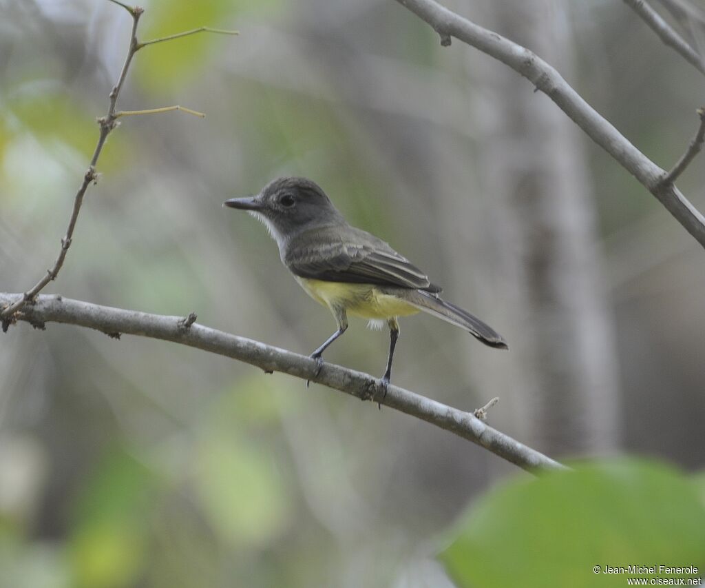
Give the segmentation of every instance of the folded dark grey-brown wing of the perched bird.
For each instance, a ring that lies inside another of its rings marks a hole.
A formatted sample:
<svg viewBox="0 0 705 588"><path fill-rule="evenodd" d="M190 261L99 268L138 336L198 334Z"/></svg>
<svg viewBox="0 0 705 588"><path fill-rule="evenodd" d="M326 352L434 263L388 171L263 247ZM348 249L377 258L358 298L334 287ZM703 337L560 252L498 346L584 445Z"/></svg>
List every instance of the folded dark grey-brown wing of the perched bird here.
<svg viewBox="0 0 705 588"><path fill-rule="evenodd" d="M284 263L294 275L326 282L354 282L441 292L427 275L384 241L360 231L362 239L332 238L331 234L292 244Z"/></svg>

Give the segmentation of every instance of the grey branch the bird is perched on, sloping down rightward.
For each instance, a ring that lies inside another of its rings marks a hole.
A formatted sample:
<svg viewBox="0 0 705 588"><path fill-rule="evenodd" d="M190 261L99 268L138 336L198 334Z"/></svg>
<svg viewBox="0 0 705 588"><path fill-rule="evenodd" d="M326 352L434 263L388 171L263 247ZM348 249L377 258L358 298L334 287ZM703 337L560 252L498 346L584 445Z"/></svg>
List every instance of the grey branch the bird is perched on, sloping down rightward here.
<svg viewBox="0 0 705 588"><path fill-rule="evenodd" d="M0 304L13 304L17 299L22 299L22 296L0 294ZM529 472L565 468L563 464L487 426L470 412L449 407L395 385L388 385L385 395L380 380L367 373L334 364L323 364L318 372L317 362L308 356L204 327L194 322L193 314L187 318L161 316L42 294L16 313L12 320L24 320L40 329L44 328L44 323L66 323L99 330L114 338L125 333L196 347L244 361L264 371L288 373L361 400L379 402L482 445Z"/></svg>

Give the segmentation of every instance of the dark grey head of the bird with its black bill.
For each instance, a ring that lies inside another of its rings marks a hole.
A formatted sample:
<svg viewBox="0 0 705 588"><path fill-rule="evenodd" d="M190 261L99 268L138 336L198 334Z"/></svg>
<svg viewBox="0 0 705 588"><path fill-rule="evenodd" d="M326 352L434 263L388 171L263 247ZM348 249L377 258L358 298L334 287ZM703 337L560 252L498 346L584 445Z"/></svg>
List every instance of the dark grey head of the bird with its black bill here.
<svg viewBox="0 0 705 588"><path fill-rule="evenodd" d="M321 187L306 178L278 178L257 196L233 198L225 204L262 220L280 248L303 231L345 222Z"/></svg>

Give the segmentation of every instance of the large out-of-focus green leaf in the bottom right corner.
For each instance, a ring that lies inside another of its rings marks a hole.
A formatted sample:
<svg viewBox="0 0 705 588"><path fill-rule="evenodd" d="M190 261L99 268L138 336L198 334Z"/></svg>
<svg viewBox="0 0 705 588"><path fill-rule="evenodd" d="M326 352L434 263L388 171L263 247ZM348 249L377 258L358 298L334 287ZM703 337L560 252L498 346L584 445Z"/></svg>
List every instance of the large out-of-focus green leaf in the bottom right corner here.
<svg viewBox="0 0 705 588"><path fill-rule="evenodd" d="M673 467L626 459L515 480L472 506L441 559L468 588L625 586L644 576L596 575L596 565L704 570L698 490Z"/></svg>

